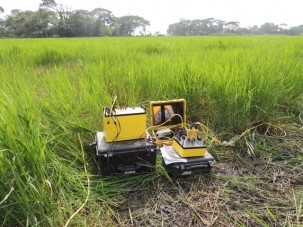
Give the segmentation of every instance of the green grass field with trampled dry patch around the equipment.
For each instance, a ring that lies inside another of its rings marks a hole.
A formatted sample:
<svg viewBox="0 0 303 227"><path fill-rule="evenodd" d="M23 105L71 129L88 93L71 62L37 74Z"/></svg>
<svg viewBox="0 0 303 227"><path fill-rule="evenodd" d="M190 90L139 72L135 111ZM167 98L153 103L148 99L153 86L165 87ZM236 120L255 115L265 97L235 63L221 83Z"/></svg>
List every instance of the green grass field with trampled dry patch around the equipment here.
<svg viewBox="0 0 303 227"><path fill-rule="evenodd" d="M2 225L300 226L302 85L302 37L2 39ZM88 144L114 95L185 98L236 146L210 148L209 175L170 179L159 160L98 178Z"/></svg>

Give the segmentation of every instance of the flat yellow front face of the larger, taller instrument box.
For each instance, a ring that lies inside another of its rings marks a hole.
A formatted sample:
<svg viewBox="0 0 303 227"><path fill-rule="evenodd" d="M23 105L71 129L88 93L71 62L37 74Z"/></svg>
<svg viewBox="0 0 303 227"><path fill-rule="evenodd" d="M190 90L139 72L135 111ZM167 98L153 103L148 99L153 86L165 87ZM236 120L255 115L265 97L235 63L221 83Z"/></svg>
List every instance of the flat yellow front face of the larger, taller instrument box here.
<svg viewBox="0 0 303 227"><path fill-rule="evenodd" d="M108 143L144 138L145 130L146 113L113 117L103 115L103 131Z"/></svg>

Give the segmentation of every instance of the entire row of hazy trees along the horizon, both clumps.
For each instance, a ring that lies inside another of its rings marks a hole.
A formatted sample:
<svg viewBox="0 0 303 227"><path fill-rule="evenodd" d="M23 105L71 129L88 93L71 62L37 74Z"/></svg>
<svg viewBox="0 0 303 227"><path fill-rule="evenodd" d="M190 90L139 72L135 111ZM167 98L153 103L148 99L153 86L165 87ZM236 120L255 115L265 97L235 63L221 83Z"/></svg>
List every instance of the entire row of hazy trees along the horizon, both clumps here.
<svg viewBox="0 0 303 227"><path fill-rule="evenodd" d="M0 6L0 15L3 12ZM140 16L116 17L104 8L70 10L55 0L42 0L37 11L14 9L4 19L0 19L0 37L146 36L151 35L147 31L148 26L150 22ZM238 21L226 22L215 18L181 19L167 29L167 34L172 36L302 33L303 25L289 27L286 24L264 23L261 26L241 27Z"/></svg>

